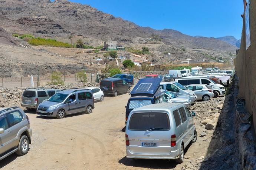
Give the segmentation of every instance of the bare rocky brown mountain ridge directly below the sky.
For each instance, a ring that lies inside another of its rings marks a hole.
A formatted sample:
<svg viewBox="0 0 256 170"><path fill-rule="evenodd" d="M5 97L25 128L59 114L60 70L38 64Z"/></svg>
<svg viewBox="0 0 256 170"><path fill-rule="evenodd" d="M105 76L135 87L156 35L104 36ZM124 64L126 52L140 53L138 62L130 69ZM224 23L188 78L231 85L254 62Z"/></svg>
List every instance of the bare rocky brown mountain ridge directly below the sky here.
<svg viewBox="0 0 256 170"><path fill-rule="evenodd" d="M44 37L68 34L94 40L133 41L150 38L152 33L167 44L193 49L217 49L234 53L236 48L220 40L191 37L175 30L154 30L105 14L88 5L68 0L1 0L0 26L9 33L29 33Z"/></svg>

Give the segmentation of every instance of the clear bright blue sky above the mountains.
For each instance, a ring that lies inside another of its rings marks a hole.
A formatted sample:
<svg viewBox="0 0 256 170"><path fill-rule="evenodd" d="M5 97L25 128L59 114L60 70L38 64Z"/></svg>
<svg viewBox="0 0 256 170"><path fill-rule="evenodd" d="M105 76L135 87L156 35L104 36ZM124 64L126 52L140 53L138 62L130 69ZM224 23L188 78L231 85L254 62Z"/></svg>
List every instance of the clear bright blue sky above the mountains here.
<svg viewBox="0 0 256 170"><path fill-rule="evenodd" d="M154 29L241 38L243 0L70 0Z"/></svg>

